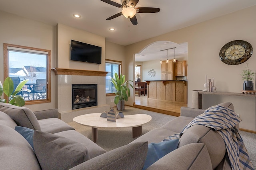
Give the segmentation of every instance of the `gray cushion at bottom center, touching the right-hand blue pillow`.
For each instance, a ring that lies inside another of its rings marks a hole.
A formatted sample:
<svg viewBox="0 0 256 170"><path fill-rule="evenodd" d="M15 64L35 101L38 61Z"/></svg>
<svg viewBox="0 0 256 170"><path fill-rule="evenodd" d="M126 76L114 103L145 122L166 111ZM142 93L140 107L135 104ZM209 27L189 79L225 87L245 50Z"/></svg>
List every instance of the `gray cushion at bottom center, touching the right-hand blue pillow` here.
<svg viewBox="0 0 256 170"><path fill-rule="evenodd" d="M147 151L147 142L130 143L83 162L70 170L141 170Z"/></svg>

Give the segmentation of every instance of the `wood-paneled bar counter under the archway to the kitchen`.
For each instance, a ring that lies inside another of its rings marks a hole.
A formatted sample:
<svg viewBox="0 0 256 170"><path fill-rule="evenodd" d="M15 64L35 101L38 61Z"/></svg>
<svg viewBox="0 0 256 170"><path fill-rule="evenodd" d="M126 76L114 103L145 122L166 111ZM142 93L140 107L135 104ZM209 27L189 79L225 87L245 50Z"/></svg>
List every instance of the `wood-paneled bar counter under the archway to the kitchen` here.
<svg viewBox="0 0 256 170"><path fill-rule="evenodd" d="M188 80L146 80L148 99L187 104Z"/></svg>

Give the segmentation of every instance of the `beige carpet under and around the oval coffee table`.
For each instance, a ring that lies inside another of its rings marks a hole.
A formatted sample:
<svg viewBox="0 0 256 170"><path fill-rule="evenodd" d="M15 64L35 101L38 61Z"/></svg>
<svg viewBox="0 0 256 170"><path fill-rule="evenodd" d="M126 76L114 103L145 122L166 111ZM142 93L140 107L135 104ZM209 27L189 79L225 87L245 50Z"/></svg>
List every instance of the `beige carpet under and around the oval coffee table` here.
<svg viewBox="0 0 256 170"><path fill-rule="evenodd" d="M175 118L175 116L165 115L162 113L156 113L152 111L147 111L143 109L137 109L134 107L125 106L123 111L124 115L131 114L148 114L152 117L152 120L149 123L146 123L142 126L142 134L147 133L148 131L161 127L168 121ZM74 127L76 131L82 133L84 136L92 139L91 127L86 127L79 125L75 122L69 122L70 126ZM256 134L240 131L240 135L244 140L244 144L248 150L252 164L256 167ZM109 151L121 146L124 146L132 142L136 138L132 138L132 128L120 128L120 129L98 129L98 141L96 142L100 147Z"/></svg>

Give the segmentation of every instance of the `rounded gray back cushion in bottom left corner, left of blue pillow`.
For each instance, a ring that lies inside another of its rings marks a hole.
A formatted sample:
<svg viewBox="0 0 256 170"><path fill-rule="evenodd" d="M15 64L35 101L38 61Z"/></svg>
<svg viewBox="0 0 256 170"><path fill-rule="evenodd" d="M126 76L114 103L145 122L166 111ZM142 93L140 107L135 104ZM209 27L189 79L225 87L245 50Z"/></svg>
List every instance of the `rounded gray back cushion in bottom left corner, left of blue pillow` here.
<svg viewBox="0 0 256 170"><path fill-rule="evenodd" d="M0 125L0 169L40 170L34 150L18 132Z"/></svg>

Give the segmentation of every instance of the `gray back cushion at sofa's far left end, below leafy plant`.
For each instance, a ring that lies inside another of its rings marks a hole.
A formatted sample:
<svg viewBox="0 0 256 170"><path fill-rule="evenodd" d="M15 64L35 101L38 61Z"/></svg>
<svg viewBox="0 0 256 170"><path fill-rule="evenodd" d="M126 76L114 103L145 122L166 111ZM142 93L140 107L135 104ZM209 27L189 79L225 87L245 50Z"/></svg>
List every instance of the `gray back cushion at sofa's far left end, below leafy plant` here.
<svg viewBox="0 0 256 170"><path fill-rule="evenodd" d="M34 113L26 108L0 102L0 111L9 115L18 126L41 130Z"/></svg>

